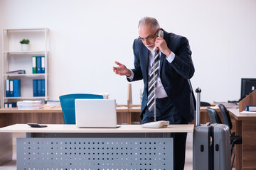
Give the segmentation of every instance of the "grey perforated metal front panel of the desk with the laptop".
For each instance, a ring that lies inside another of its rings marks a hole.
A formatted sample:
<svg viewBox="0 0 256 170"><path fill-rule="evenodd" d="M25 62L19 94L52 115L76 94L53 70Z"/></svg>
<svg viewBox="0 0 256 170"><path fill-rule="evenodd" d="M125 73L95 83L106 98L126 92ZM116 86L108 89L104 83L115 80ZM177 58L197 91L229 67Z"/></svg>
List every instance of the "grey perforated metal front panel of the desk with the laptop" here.
<svg viewBox="0 0 256 170"><path fill-rule="evenodd" d="M170 170L172 138L18 138L17 169Z"/></svg>

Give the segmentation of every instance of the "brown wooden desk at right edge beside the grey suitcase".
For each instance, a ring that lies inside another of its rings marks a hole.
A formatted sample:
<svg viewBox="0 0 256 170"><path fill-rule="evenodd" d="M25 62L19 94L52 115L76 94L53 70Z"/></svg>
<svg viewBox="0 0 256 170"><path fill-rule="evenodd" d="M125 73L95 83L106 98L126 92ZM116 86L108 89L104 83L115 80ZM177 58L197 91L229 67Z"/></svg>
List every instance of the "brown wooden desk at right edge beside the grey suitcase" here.
<svg viewBox="0 0 256 170"><path fill-rule="evenodd" d="M242 145L235 145L235 170L256 169L256 113L239 113L238 108L230 108L235 135L242 136Z"/></svg>

